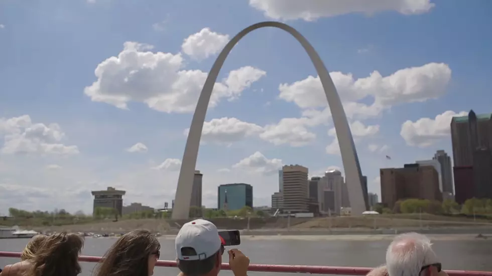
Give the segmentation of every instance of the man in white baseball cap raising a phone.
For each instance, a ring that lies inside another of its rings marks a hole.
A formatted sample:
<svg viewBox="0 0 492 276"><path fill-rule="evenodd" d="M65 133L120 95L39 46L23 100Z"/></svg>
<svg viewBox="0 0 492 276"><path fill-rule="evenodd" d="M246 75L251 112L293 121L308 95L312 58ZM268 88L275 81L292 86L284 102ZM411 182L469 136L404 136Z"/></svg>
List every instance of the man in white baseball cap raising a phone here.
<svg viewBox="0 0 492 276"><path fill-rule="evenodd" d="M217 276L224 251L224 241L212 222L195 219L185 223L176 236L180 276ZM238 249L227 253L234 276L247 276L250 259Z"/></svg>

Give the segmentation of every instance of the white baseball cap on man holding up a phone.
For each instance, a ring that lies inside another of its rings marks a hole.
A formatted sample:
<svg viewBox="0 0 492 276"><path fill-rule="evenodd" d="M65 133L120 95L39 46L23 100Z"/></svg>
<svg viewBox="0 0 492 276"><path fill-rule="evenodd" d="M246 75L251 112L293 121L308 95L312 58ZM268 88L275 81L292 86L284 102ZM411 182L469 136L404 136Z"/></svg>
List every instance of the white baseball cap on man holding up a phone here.
<svg viewBox="0 0 492 276"><path fill-rule="evenodd" d="M195 219L183 224L176 236L176 254L180 260L206 259L224 243L215 225L204 219ZM192 254L182 254L182 248L192 248Z"/></svg>

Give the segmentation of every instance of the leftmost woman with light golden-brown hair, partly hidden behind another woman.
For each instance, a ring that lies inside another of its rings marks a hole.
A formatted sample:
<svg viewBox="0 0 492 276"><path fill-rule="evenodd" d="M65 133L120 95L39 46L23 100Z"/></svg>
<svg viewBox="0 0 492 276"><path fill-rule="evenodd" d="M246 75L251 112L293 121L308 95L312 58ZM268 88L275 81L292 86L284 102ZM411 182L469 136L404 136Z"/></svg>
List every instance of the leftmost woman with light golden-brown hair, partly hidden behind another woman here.
<svg viewBox="0 0 492 276"><path fill-rule="evenodd" d="M6 265L4 270L1 270L2 276L20 276L23 275L33 265L33 260L36 258L36 252L41 247L41 244L46 239L43 234L35 235L27 243L24 251L21 254L21 261L14 264Z"/></svg>

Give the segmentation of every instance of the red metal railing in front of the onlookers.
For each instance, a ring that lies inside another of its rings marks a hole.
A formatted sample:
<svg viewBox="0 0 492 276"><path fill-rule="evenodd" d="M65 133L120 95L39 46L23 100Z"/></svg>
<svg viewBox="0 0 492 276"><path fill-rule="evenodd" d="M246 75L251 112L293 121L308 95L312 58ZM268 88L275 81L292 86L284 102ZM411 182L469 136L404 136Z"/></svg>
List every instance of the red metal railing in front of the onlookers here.
<svg viewBox="0 0 492 276"><path fill-rule="evenodd" d="M0 257L20 258L20 252L0 251ZM80 256L79 261L99 262L101 257ZM176 267L176 261L158 260L157 266ZM222 269L230 270L228 263L222 263ZM278 264L250 264L248 271L258 272L289 272L289 273L311 273L311 274L334 274L334 275L365 275L371 271L370 267L343 267L343 266L321 266L321 265L278 265ZM446 270L449 276L492 276L492 271L471 270Z"/></svg>

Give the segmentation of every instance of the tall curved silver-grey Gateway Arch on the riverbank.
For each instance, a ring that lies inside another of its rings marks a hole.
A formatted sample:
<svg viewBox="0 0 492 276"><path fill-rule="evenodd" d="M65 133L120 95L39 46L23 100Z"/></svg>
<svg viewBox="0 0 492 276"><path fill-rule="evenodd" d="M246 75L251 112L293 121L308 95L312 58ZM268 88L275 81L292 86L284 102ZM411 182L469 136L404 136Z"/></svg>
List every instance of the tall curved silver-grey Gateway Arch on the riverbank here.
<svg viewBox="0 0 492 276"><path fill-rule="evenodd" d="M222 65L230 50L232 50L234 45L236 45L239 40L250 32L264 27L279 28L291 34L295 39L297 39L309 55L309 58L318 73L323 90L326 94L326 99L328 100L331 115L333 117L336 137L338 139L338 144L340 145L340 152L345 171L345 179L347 183L348 196L351 203L350 205L352 207L352 213L361 214L366 210L366 204L362 192L362 174L360 172L360 165L357 152L355 151L352 133L350 132L350 127L348 125L347 117L345 116L345 111L343 110L340 97L336 92L335 85L328 74L328 70L326 70L323 62L319 58L318 53L314 50L311 44L309 44L309 42L294 28L279 22L261 22L245 28L233 37L229 43L227 43L215 60L212 69L208 74L207 80L203 85L200 98L198 98L198 103L196 105L195 114L193 115L193 119L191 121L191 127L183 154L181 170L178 178L178 187L176 188L176 197L174 200L172 213L173 219L187 219L189 217L193 177L203 123L205 121L205 115L207 113L213 85L217 80L219 71L222 68Z"/></svg>

